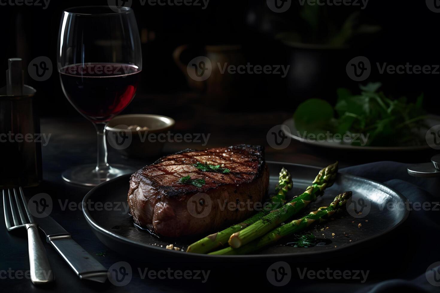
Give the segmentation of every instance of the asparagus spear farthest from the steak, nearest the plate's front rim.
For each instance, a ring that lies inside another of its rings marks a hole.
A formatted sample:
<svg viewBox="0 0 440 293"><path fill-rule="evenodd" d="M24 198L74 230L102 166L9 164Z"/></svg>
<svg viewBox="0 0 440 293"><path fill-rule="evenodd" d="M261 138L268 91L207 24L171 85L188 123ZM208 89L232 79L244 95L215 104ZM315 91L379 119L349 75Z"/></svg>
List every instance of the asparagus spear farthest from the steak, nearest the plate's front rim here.
<svg viewBox="0 0 440 293"><path fill-rule="evenodd" d="M259 250L264 246L268 246L271 243L277 242L282 237L287 235L291 235L295 232L300 232L306 229L308 226L315 224L317 221L326 221L330 218L331 215L336 213L342 206L347 203L347 200L352 196L352 192L344 192L340 195L337 195L333 201L330 203L330 206L320 207L318 210L309 213L307 216L302 217L298 220L293 220L290 223L280 226L275 230L272 230L268 234L264 235L262 238L254 240L244 246L241 246L237 249L232 247L226 247L222 250L217 250L211 252L209 254L216 255L231 255L231 254L247 254L253 251Z"/></svg>

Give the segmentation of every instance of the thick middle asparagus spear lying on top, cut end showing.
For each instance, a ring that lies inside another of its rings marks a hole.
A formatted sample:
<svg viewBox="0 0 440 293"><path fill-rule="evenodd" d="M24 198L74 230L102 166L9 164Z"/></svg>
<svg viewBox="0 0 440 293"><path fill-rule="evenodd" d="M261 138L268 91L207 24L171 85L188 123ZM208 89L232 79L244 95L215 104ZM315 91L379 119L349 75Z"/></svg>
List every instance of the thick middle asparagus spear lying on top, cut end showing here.
<svg viewBox="0 0 440 293"><path fill-rule="evenodd" d="M228 241L229 245L233 248L238 248L254 239L260 238L282 222L287 221L311 201L315 200L317 195L321 195L324 189L333 185L336 175L337 162L319 171L312 186L309 186L303 194L293 198L279 209L271 211L252 225L232 234Z"/></svg>

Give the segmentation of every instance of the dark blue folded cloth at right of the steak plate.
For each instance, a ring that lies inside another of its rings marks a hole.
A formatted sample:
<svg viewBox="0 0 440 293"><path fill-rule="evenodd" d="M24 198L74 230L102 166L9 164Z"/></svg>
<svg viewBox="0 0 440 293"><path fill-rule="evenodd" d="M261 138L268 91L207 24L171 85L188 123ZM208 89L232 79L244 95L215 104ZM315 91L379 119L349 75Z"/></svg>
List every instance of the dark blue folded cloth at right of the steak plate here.
<svg viewBox="0 0 440 293"><path fill-rule="evenodd" d="M382 182L405 196L411 207L414 203L429 203L430 210L411 209L409 217L400 226L398 233L401 235L395 237L404 241L400 241L400 244L397 241L397 244L384 244L384 249L390 249L390 245L402 246L396 248L394 253L406 251L402 257L407 259L407 267L400 270L404 272L403 275L414 276L413 279L384 278L382 282L373 284L321 283L307 286L304 288L307 292L323 292L324 289L327 293L440 292L440 266L434 266L433 270L425 274L431 265L436 262L440 264L440 179L412 177L407 173L408 166L396 162L376 162L343 168L340 172ZM378 246L378 249L381 247ZM378 265L386 266L388 261L390 260L378 260Z"/></svg>

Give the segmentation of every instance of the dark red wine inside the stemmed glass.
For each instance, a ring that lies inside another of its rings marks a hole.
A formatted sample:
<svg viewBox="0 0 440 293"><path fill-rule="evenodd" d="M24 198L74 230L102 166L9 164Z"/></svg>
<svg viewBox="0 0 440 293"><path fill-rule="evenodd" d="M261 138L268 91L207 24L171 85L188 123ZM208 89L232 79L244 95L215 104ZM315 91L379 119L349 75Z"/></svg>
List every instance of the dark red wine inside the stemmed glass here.
<svg viewBox="0 0 440 293"><path fill-rule="evenodd" d="M106 122L132 101L139 83L137 66L114 63L69 65L60 70L70 103L88 119Z"/></svg>

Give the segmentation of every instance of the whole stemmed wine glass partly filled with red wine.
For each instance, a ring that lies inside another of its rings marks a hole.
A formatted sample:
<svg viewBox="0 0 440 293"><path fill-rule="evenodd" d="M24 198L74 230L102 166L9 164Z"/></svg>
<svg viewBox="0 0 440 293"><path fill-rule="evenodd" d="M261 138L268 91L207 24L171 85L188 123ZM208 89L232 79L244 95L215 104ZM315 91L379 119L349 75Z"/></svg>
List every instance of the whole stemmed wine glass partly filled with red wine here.
<svg viewBox="0 0 440 293"><path fill-rule="evenodd" d="M73 7L62 13L58 72L66 98L95 125L98 160L62 174L68 182L95 186L132 173L107 163L106 123L133 99L142 70L139 32L128 7Z"/></svg>

